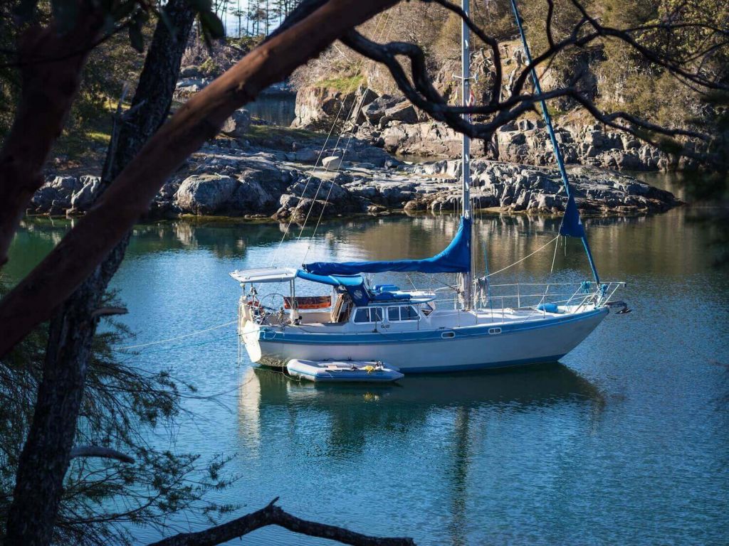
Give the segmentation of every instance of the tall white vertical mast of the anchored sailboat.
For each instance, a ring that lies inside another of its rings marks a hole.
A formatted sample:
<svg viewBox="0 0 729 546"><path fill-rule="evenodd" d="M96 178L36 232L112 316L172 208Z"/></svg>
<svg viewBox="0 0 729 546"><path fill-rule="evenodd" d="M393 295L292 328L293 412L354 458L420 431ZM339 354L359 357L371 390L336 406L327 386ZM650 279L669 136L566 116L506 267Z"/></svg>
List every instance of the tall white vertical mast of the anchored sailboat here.
<svg viewBox="0 0 729 546"><path fill-rule="evenodd" d="M469 16L469 0L461 0L461 8L466 16ZM461 19L461 105L467 106L471 101L471 52L469 47L469 28L465 18ZM463 114L464 119L469 119L468 114ZM462 173L461 173L461 197L463 199L463 208L461 213L464 218L469 220L471 214L471 138L465 133L463 136L463 153L462 157ZM461 282L463 282L463 309L468 311L473 304L473 226L469 234L471 266L469 272L461 274Z"/></svg>

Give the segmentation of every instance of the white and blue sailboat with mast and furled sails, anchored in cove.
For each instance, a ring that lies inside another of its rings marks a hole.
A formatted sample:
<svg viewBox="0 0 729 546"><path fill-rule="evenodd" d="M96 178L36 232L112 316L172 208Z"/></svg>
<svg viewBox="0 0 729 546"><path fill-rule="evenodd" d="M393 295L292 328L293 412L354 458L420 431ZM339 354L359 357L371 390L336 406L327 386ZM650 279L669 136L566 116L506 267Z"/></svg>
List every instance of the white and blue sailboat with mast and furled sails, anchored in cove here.
<svg viewBox="0 0 729 546"><path fill-rule="evenodd" d="M527 58L529 48L522 35ZM463 1L468 13L468 1ZM469 102L469 30L462 33L461 92ZM531 62L531 60L530 60ZM539 80L532 72L537 93ZM555 362L577 347L609 313L622 282L600 281L577 205L569 188L546 105L545 122L568 197L560 234L579 237L594 280L576 285L513 284L512 293L494 296L499 288L489 275L474 270L473 214L470 199L470 140L463 137L461 218L451 243L436 256L395 261L319 261L300 267L265 267L230 274L241 283L238 334L254 363L284 366L289 360L378 361L402 373L464 371ZM367 277L386 272L457 274L453 304L438 300L437 290L405 290L373 284ZM297 297L297 283L329 287L324 296ZM288 285L259 296L260 285ZM257 288L258 287L258 288ZM438 301L437 301L438 300Z"/></svg>

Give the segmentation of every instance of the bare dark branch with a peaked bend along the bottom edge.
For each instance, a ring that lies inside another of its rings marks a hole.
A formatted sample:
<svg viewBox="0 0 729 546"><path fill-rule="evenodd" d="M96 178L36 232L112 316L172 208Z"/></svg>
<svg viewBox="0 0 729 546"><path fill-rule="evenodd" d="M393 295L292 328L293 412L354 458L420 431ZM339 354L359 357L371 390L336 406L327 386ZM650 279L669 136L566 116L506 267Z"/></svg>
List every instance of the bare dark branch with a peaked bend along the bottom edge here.
<svg viewBox="0 0 729 546"><path fill-rule="evenodd" d="M160 540L149 546L214 546L229 540L243 537L256 529L269 525L277 525L309 537L336 540L354 546L413 546L415 542L409 538L378 538L366 534L348 531L342 527L303 520L291 515L276 506L278 497L256 512L243 515L233 521L211 527L196 533L182 533L168 539Z"/></svg>

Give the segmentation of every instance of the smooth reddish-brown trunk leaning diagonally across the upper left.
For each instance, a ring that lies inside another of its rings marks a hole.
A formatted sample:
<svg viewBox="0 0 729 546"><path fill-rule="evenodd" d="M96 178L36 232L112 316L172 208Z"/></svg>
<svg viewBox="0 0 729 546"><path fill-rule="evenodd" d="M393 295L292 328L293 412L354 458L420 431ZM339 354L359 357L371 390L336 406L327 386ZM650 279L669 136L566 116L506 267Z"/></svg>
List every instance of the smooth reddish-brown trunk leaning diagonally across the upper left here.
<svg viewBox="0 0 729 546"><path fill-rule="evenodd" d="M5 334L0 338L0 357L76 290L147 212L149 202L169 175L208 138L217 135L236 108L397 1L327 1L265 41L188 100L61 243L0 301L0 324ZM292 17L298 15L296 10L292 13Z"/></svg>

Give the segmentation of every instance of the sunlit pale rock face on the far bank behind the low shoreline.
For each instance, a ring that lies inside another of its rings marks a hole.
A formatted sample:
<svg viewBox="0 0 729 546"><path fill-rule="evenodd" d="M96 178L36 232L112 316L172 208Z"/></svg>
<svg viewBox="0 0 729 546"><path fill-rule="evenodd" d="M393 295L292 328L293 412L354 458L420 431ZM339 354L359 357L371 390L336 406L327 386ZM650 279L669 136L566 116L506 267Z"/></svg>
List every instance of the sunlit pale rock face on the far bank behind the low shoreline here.
<svg viewBox="0 0 729 546"><path fill-rule="evenodd" d="M371 93L371 92L370 92ZM311 87L297 95L295 127L330 128L339 111L340 122L361 97ZM440 122L422 121L403 98L382 95L362 108L354 125L357 138L378 146L390 154L418 157L456 158L461 156L461 135ZM571 123L556 130L565 162L615 170L669 170L691 168L682 159L678 163L661 151L623 132L607 130L596 123ZM473 157L498 159L522 165L553 165L552 143L541 120L522 119L504 125L491 142L474 141Z"/></svg>

